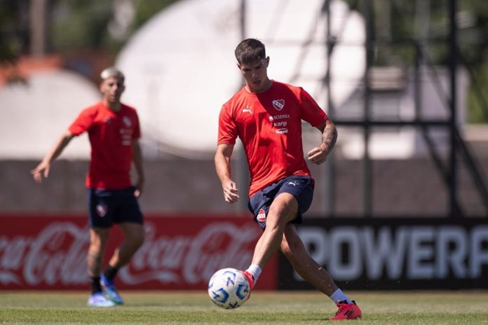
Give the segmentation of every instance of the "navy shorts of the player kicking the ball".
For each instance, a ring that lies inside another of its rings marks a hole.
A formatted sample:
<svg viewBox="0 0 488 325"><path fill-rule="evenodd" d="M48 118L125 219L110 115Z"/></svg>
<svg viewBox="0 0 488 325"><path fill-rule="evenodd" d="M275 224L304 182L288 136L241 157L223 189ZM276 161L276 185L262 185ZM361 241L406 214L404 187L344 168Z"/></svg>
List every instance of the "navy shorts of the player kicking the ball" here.
<svg viewBox="0 0 488 325"><path fill-rule="evenodd" d="M252 195L248 202L248 209L254 215L254 219L263 230L266 228L266 216L269 207L273 203L276 195L280 193L290 193L297 199L298 213L292 223L301 223L302 214L310 208L313 200L314 182L311 177L307 176L289 176L280 179L275 183L266 186L261 191Z"/></svg>

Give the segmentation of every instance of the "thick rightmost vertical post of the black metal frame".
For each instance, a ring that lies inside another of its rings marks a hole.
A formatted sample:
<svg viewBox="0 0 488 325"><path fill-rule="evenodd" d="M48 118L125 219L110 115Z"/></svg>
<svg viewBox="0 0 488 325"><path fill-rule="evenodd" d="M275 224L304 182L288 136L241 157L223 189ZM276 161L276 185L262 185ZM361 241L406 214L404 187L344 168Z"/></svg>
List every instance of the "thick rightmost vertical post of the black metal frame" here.
<svg viewBox="0 0 488 325"><path fill-rule="evenodd" d="M449 1L449 71L450 71L450 92L451 101L449 108L451 116L449 119L449 136L450 136L450 152L449 152L449 215L451 217L460 216L459 207L456 200L457 188L457 173L456 173L456 69L457 69L457 23L456 23L457 1Z"/></svg>

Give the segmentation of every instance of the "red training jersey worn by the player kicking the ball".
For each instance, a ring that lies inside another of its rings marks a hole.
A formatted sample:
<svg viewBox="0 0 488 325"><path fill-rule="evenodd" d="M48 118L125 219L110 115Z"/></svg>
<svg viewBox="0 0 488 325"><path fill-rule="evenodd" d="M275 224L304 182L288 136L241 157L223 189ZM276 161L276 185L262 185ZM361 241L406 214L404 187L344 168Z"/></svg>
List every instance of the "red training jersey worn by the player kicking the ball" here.
<svg viewBox="0 0 488 325"><path fill-rule="evenodd" d="M245 88L222 106L217 144L243 142L248 157L251 197L290 175L310 175L301 143L301 120L316 127L327 120L308 92L273 81L266 92Z"/></svg>

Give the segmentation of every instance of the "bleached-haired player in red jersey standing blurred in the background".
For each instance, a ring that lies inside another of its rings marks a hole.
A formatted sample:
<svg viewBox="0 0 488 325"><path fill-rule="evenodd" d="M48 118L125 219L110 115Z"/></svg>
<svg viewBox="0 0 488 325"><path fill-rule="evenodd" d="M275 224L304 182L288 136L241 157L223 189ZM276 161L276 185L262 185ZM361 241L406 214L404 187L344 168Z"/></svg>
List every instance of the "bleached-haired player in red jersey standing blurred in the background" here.
<svg viewBox="0 0 488 325"><path fill-rule="evenodd" d="M116 273L130 262L144 242L143 216L137 202L144 187L144 171L137 113L133 107L121 103L125 77L111 67L102 71L101 78L101 102L81 111L31 174L40 183L43 176L48 177L51 163L73 137L88 132L91 160L86 176L90 215L87 263L92 286L88 305L111 307L123 303L114 286ZM138 178L135 186L130 181L132 164ZM121 227L125 240L114 251L106 270L101 272L102 256L114 223Z"/></svg>

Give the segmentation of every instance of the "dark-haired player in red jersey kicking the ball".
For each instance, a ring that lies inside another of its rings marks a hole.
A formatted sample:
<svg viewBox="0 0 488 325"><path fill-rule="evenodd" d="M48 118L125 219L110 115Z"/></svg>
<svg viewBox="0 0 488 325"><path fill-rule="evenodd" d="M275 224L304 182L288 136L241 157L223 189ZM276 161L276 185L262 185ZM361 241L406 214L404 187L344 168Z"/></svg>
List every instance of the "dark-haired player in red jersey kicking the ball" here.
<svg viewBox="0 0 488 325"><path fill-rule="evenodd" d="M239 137L251 177L248 207L263 229L252 263L243 273L254 286L262 268L280 249L301 277L337 304L339 310L333 320L360 318L358 305L311 258L295 226L311 205L314 187L304 159L301 120L322 134L320 145L308 153L308 160L314 164L324 163L334 147L334 123L305 90L269 79L269 57L261 41L245 39L235 55L246 83L220 111L215 169L225 201L237 202L231 155Z"/></svg>

